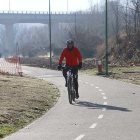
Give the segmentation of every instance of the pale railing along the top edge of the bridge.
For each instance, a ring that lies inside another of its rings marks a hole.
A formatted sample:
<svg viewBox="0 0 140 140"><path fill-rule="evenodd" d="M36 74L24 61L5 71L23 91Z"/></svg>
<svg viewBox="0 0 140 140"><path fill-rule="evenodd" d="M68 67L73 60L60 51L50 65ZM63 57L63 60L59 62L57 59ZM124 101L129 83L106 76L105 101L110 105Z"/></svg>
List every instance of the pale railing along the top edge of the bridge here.
<svg viewBox="0 0 140 140"><path fill-rule="evenodd" d="M0 11L0 14L49 14L48 11ZM78 12L67 12L67 11L52 11L51 14L91 14L90 11L78 11Z"/></svg>

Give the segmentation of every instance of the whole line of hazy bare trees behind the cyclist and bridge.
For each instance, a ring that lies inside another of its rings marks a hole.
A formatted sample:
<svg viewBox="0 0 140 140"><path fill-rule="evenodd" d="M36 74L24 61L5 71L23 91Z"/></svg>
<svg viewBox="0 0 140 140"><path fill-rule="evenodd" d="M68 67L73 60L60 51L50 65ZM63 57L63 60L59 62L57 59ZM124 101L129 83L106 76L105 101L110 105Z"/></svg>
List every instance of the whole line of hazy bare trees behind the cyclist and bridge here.
<svg viewBox="0 0 140 140"><path fill-rule="evenodd" d="M59 36L52 42L53 50L59 55L66 47L66 40L73 39L83 57L95 57L97 46L105 40L105 3L90 5L87 11L77 11L71 24L59 26ZM85 12L85 14L81 14ZM87 14L86 14L87 12ZM140 1L108 0L108 33L116 36L120 43L120 32L124 32L128 40L140 35ZM48 26L27 27L24 24L14 26L15 42L18 42L23 56L33 57L49 51ZM4 28L0 28L0 51L5 47ZM6 50L5 50L6 51ZM59 52L59 53L57 53Z"/></svg>

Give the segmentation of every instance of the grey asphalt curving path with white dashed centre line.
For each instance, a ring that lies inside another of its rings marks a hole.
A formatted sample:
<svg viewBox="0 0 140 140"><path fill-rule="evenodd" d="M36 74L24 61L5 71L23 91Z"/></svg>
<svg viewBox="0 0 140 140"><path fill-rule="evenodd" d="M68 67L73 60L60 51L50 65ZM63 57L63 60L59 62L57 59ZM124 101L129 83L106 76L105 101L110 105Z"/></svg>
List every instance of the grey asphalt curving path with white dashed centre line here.
<svg viewBox="0 0 140 140"><path fill-rule="evenodd" d="M23 72L55 84L61 97L40 119L3 140L140 140L140 87L80 74L80 98L70 105L60 71Z"/></svg>

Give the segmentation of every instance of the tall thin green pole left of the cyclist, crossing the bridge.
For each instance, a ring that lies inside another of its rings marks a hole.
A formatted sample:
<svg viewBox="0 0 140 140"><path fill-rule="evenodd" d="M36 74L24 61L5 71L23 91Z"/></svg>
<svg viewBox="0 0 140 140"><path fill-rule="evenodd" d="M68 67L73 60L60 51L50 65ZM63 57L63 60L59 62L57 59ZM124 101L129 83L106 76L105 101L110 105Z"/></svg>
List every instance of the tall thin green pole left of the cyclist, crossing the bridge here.
<svg viewBox="0 0 140 140"><path fill-rule="evenodd" d="M50 68L52 68L52 41L51 41L51 3L49 0L49 34L50 34Z"/></svg>

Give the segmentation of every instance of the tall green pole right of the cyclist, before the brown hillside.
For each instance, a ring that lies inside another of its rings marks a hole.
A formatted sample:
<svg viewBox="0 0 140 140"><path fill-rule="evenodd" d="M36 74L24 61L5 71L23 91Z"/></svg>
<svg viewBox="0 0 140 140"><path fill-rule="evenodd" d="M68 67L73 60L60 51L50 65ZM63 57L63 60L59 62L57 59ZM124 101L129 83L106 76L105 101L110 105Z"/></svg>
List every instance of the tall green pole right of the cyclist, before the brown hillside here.
<svg viewBox="0 0 140 140"><path fill-rule="evenodd" d="M106 75L108 75L108 6L106 0Z"/></svg>

